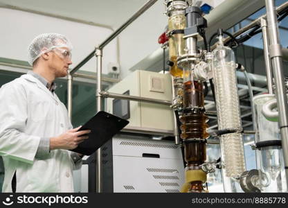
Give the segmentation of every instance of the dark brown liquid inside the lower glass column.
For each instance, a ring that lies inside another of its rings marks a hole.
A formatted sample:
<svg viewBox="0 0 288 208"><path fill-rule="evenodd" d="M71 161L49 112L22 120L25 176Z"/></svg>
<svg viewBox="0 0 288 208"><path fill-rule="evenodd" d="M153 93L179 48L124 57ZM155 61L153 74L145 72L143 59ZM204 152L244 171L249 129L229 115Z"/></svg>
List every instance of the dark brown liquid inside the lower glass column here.
<svg viewBox="0 0 288 208"><path fill-rule="evenodd" d="M206 161L208 117L204 114L204 91L200 81L184 83L183 115L180 118L185 161L191 169L199 169ZM204 192L203 182L190 182L188 192Z"/></svg>

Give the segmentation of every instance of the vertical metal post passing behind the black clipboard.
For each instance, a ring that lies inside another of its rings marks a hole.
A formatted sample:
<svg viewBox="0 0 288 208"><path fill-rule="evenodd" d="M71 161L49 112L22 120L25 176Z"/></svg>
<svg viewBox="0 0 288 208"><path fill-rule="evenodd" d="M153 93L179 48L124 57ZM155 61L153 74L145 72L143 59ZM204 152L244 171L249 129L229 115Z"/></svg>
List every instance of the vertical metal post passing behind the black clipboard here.
<svg viewBox="0 0 288 208"><path fill-rule="evenodd" d="M102 110L102 96L100 92L102 91L102 49L96 49L96 61L97 61L97 86L96 86L96 103L97 111ZM96 191L98 193L102 192L102 150L98 148L96 151Z"/></svg>

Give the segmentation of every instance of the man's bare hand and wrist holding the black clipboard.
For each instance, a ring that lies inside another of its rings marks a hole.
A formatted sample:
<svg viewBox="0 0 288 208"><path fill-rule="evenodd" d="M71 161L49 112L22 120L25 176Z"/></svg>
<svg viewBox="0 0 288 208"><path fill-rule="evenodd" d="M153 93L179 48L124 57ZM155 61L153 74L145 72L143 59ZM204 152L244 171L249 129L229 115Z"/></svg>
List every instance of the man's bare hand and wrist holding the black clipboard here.
<svg viewBox="0 0 288 208"><path fill-rule="evenodd" d="M81 126L78 128L73 128L63 133L58 137L50 138L50 150L55 149L64 149L64 150L72 150L78 146L84 139L88 139L87 134L91 132L91 130L82 130L77 132Z"/></svg>

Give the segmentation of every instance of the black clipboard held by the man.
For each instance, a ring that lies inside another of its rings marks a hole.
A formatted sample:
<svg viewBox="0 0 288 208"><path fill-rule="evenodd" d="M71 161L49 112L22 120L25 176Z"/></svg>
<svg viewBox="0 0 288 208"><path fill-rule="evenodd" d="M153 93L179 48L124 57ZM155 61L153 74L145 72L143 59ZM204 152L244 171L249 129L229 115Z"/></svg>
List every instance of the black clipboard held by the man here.
<svg viewBox="0 0 288 208"><path fill-rule="evenodd" d="M128 123L129 121L125 119L100 111L78 130L91 130L88 135L89 139L85 139L71 151L82 155L91 155Z"/></svg>

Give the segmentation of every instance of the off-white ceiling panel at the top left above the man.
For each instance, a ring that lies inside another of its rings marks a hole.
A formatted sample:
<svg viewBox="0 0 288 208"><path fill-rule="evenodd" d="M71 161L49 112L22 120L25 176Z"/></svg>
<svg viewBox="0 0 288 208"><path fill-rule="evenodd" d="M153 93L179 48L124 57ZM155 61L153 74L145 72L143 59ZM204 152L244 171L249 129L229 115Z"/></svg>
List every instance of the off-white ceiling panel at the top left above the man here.
<svg viewBox="0 0 288 208"><path fill-rule="evenodd" d="M147 0L0 0L0 7L44 12L116 29Z"/></svg>

